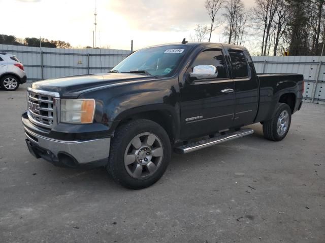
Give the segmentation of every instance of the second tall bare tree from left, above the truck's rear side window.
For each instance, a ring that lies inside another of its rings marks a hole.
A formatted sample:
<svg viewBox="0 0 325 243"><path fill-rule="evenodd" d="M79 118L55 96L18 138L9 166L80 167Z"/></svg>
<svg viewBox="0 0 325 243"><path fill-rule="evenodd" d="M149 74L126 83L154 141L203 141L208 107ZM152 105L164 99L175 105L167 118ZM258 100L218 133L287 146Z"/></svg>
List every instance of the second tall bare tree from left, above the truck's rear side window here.
<svg viewBox="0 0 325 243"><path fill-rule="evenodd" d="M243 3L241 0L228 0L225 4L225 13L223 16L226 19L226 27L225 27L225 34L228 35L228 44L231 44L232 41L235 39L234 43L236 42L236 27L238 25L238 21L241 19L240 14L241 10L244 8Z"/></svg>

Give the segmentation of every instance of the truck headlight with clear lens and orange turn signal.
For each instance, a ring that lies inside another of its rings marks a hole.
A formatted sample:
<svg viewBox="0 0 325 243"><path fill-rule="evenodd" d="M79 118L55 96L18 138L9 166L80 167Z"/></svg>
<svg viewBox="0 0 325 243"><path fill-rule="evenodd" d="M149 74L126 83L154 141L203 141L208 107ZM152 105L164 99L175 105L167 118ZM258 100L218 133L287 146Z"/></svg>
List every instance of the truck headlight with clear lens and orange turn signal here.
<svg viewBox="0 0 325 243"><path fill-rule="evenodd" d="M93 99L61 99L60 121L62 123L92 123L95 112Z"/></svg>

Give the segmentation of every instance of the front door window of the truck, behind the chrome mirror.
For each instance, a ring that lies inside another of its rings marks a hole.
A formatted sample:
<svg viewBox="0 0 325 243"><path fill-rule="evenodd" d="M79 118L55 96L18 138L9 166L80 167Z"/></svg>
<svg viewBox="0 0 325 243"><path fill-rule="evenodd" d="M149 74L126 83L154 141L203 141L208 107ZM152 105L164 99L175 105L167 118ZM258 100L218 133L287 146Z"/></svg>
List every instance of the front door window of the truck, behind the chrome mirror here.
<svg viewBox="0 0 325 243"><path fill-rule="evenodd" d="M228 78L224 56L220 50L207 50L201 52L187 69L187 72L192 72L193 68L199 65L213 65L217 68L217 78Z"/></svg>

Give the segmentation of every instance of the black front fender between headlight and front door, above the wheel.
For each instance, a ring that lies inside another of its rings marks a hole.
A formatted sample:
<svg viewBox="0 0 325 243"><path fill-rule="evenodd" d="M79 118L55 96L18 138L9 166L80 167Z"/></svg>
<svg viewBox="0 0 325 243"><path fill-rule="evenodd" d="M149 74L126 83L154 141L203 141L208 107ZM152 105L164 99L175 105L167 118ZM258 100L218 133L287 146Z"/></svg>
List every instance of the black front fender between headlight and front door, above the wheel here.
<svg viewBox="0 0 325 243"><path fill-rule="evenodd" d="M147 111L161 111L179 124L178 78L149 80L128 85L98 89L80 95L96 100L95 123L116 126L126 117ZM115 126L110 128L114 131Z"/></svg>

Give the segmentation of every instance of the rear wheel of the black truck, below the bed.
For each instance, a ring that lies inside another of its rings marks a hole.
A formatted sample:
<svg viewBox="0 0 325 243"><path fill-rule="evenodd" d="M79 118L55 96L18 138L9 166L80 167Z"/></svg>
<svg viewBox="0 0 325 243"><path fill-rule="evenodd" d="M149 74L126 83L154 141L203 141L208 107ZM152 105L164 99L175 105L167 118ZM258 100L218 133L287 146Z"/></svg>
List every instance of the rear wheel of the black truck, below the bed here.
<svg viewBox="0 0 325 243"><path fill-rule="evenodd" d="M291 109L287 104L278 103L276 105L272 119L264 121L264 137L281 141L287 135L291 124Z"/></svg>

